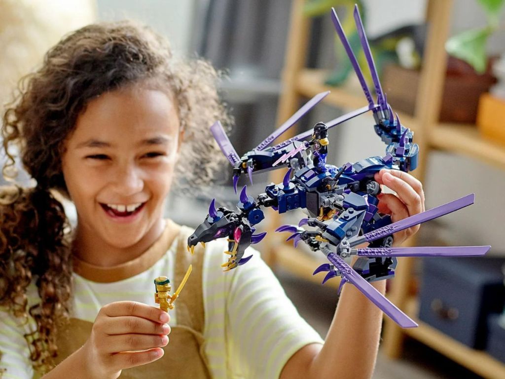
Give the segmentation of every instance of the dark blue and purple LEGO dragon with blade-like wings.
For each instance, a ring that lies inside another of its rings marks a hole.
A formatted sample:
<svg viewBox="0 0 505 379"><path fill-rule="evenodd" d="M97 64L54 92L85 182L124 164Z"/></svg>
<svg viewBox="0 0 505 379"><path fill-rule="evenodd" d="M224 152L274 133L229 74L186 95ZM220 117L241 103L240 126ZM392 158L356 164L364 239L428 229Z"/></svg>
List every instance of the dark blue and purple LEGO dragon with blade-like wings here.
<svg viewBox="0 0 505 379"><path fill-rule="evenodd" d="M310 217L300 220L297 225L283 225L276 231L290 232L287 240L292 240L295 247L304 242L311 250L320 251L326 256L329 263L319 266L314 274L326 271L323 283L330 278L341 276L339 291L344 283L352 283L398 325L415 327L417 323L387 300L370 282L393 277L396 257L481 256L490 246L392 246L393 233L473 204L474 195L397 222L392 222L389 215L378 211L377 196L381 193L381 187L374 180L374 174L384 168L404 172L414 170L418 164L419 147L413 143L414 133L400 123L398 116L393 115L391 106L387 103L358 7L355 7L354 18L372 74L376 103L334 9L331 18L361 83L368 105L327 123L318 122L312 129L270 146L272 141L328 94L319 93L260 145L242 157L236 153L220 122L215 122L211 130L233 167L235 193L241 174L247 174L252 184L253 173L281 167L287 167L288 171L282 183L267 185L265 192L258 195L257 199L248 196L244 186L236 211L225 207L216 208L215 200L212 200L208 216L188 238L188 249L192 251L198 243L205 245L210 241L227 238L228 251L225 253L229 254L229 258L223 267L225 271L234 269L251 259L251 256L244 257L245 249L251 244L259 243L266 235L266 232L255 234L255 225L265 218L263 207L270 207L279 213L305 209ZM328 164L328 129L370 111L373 112L375 120L375 132L387 144L385 156L374 156L354 164L346 163L341 167ZM366 243L369 244L368 247L360 248L360 245ZM358 258L352 266L344 260L355 255Z"/></svg>

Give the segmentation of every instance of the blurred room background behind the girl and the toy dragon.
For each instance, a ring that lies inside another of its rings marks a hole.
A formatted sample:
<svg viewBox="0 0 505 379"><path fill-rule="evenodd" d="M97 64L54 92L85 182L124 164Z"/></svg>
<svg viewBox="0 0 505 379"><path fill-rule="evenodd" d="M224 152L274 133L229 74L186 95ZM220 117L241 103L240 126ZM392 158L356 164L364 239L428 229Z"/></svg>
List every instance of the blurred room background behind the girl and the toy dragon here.
<svg viewBox="0 0 505 379"><path fill-rule="evenodd" d="M37 67L43 53L67 32L95 20L132 18L167 36L179 54L204 57L227 73L221 92L235 117L230 139L240 155L323 90L332 91L328 101L303 118L298 131L366 105L329 14L334 6L350 36L356 29L346 20L354 3L0 0L0 103L10 100L19 78ZM413 243L492 246L482 264L400 260L398 275L403 274L388 283L389 297L420 327L405 334L386 320L374 377L505 377L505 316L500 316L505 299L503 1L358 3L388 101L415 131L421 147L421 165L413 174L423 181L426 208L476 194L473 206L424 224ZM330 141L328 162L335 165L385 152L371 115L333 128ZM216 179L213 194L218 202L233 204L227 171L224 167ZM29 184L23 173L19 181ZM271 174L255 176L250 195L264 192L271 181L280 180ZM204 196L172 194L167 216L194 226L207 214L208 204ZM75 219L71 205L67 208ZM297 216L293 212L275 220L294 223ZM271 231L272 226L263 227ZM260 250L300 313L324 337L337 296L335 285L323 287L311 279L321 258L293 251L273 233Z"/></svg>

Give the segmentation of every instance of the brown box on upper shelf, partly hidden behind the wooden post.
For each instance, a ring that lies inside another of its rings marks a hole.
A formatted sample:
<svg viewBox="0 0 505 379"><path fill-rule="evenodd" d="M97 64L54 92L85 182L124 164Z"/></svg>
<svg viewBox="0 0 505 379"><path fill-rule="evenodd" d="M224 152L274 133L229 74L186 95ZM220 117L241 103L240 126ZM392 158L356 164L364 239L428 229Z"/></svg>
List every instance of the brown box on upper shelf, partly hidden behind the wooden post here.
<svg viewBox="0 0 505 379"><path fill-rule="evenodd" d="M398 65L384 68L382 87L393 109L414 114L420 76L420 71ZM479 97L495 82L490 70L478 75L467 63L449 57L439 121L475 124Z"/></svg>

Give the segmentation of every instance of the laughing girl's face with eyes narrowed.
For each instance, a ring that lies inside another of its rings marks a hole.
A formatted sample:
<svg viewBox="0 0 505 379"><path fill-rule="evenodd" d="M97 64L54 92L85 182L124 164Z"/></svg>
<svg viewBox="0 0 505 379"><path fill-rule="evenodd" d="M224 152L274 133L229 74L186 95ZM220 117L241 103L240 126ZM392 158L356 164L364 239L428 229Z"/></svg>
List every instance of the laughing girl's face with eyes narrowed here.
<svg viewBox="0 0 505 379"><path fill-rule="evenodd" d="M79 233L97 247L154 242L179 143L177 110L162 91L132 86L90 101L62 161Z"/></svg>

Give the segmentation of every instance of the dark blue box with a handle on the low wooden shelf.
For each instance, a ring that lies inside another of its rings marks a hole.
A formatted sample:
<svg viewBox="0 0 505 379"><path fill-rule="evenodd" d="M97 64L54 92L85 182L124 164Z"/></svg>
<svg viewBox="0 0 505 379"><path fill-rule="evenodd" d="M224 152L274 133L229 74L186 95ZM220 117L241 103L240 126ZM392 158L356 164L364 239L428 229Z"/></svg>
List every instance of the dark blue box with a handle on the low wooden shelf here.
<svg viewBox="0 0 505 379"><path fill-rule="evenodd" d="M503 258L424 258L419 319L474 348L484 349L487 317L505 302Z"/></svg>

